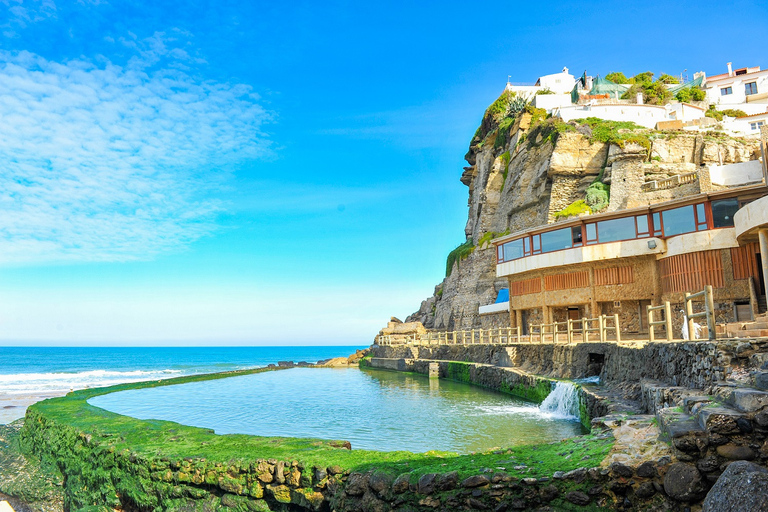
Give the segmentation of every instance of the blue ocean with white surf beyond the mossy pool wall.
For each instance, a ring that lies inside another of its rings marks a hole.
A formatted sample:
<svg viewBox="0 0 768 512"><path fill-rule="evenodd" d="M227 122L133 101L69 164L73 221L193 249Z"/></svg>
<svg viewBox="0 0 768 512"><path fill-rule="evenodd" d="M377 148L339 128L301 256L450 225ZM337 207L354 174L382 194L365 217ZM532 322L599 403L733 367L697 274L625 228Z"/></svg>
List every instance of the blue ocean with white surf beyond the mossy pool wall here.
<svg viewBox="0 0 768 512"><path fill-rule="evenodd" d="M72 389L348 356L364 346L0 347L0 423Z"/></svg>

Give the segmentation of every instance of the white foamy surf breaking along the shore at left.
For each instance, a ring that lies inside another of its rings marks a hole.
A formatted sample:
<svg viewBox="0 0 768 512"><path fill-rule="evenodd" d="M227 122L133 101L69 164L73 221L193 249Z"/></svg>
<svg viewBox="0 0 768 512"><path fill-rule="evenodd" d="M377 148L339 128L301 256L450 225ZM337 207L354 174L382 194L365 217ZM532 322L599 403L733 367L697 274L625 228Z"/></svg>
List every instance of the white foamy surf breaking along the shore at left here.
<svg viewBox="0 0 768 512"><path fill-rule="evenodd" d="M143 380L169 379L182 374L181 370L89 370L84 372L16 373L0 375L0 393L9 395L36 395L65 393L74 389L95 388L140 382Z"/></svg>

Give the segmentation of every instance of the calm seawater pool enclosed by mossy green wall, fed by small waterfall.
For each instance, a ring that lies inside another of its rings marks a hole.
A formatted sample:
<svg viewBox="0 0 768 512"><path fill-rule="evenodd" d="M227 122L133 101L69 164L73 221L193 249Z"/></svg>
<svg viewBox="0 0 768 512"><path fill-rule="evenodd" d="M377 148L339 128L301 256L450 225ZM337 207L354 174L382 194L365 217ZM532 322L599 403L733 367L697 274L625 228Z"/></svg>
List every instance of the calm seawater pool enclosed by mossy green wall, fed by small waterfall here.
<svg viewBox="0 0 768 512"><path fill-rule="evenodd" d="M118 414L217 434L344 439L352 448L468 452L583 433L573 418L447 380L356 368L296 368L119 391L88 400Z"/></svg>

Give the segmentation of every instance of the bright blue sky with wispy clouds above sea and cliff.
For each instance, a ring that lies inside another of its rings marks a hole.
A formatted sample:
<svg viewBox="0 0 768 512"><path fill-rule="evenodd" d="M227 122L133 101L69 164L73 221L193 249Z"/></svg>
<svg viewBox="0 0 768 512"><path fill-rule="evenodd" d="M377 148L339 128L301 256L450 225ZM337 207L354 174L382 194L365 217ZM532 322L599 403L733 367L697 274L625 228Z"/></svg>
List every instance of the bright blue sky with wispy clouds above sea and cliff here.
<svg viewBox="0 0 768 512"><path fill-rule="evenodd" d="M366 344L463 241L508 75L768 66L723 9L0 0L0 344Z"/></svg>

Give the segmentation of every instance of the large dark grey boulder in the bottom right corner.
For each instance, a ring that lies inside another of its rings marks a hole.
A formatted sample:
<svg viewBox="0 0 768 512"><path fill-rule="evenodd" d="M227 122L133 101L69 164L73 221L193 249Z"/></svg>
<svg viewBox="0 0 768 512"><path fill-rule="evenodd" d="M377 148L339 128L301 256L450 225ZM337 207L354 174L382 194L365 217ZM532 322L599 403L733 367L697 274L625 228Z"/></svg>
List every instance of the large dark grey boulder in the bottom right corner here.
<svg viewBox="0 0 768 512"><path fill-rule="evenodd" d="M768 470L746 461L732 462L707 494L702 512L768 510Z"/></svg>

